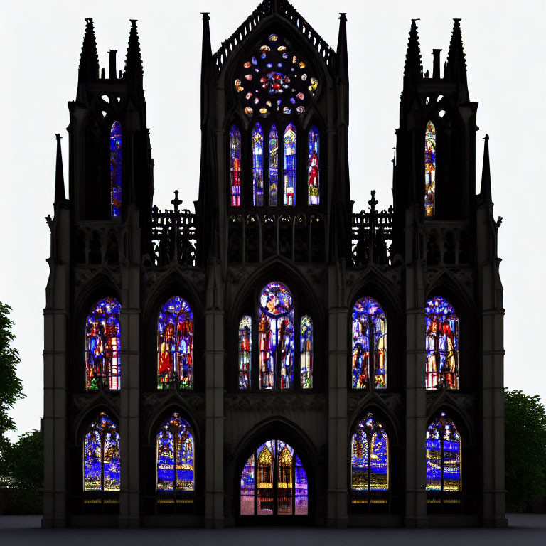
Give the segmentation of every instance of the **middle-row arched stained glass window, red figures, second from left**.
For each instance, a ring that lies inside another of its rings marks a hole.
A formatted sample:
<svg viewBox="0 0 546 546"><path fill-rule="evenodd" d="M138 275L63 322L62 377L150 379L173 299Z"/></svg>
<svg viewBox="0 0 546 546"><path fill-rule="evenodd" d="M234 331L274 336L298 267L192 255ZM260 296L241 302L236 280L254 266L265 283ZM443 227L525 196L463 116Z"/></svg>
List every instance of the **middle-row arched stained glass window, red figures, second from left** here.
<svg viewBox="0 0 546 546"><path fill-rule="evenodd" d="M178 296L157 318L157 387L193 389L193 313Z"/></svg>

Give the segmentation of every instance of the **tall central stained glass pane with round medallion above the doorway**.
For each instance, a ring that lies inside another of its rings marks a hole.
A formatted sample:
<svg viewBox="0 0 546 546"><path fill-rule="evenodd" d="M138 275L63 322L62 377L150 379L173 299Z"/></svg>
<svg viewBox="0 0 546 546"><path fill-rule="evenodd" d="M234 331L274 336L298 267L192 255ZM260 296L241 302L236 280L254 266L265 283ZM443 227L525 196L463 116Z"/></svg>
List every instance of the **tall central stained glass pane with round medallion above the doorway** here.
<svg viewBox="0 0 546 546"><path fill-rule="evenodd" d="M291 389L294 381L294 306L280 282L267 284L259 296L259 388Z"/></svg>

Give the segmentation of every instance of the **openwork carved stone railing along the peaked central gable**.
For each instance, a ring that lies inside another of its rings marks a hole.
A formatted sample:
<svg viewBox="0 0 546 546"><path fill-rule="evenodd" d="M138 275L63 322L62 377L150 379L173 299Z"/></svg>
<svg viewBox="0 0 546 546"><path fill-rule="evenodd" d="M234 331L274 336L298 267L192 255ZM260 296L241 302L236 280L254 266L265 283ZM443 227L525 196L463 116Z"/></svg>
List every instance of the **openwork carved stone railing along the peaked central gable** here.
<svg viewBox="0 0 546 546"><path fill-rule="evenodd" d="M287 0L264 0L262 4L252 11L242 25L232 33L230 38L222 42L220 49L213 55L214 63L218 72L221 72L223 65L230 58L237 45L242 43L247 36L256 28L263 18L277 13L299 29L311 47L321 55L326 65L331 66L335 55L333 49L319 36L314 28L298 13L298 11Z"/></svg>

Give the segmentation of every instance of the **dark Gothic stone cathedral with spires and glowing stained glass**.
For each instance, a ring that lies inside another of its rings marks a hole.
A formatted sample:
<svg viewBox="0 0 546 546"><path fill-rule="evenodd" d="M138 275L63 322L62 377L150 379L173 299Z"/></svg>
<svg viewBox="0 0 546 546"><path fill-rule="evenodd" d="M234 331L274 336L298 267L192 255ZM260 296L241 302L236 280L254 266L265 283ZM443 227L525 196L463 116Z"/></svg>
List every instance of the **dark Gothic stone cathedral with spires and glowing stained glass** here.
<svg viewBox="0 0 546 546"><path fill-rule="evenodd" d="M43 527L506 525L501 218L459 19L432 74L411 22L392 206L360 213L346 21L334 50L264 0L213 53L203 14L192 211L154 205L137 21L118 71L86 20L47 219Z"/></svg>

